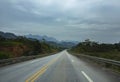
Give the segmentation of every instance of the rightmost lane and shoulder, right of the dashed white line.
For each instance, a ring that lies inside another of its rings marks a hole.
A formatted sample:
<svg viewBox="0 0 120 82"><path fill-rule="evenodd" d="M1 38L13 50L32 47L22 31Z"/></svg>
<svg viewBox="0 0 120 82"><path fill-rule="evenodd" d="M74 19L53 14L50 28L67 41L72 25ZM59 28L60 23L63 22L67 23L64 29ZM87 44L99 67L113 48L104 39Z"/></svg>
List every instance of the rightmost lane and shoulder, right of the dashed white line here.
<svg viewBox="0 0 120 82"><path fill-rule="evenodd" d="M72 65L77 71L79 77L82 76L81 73L84 71L93 82L120 82L120 75L113 73L99 65L91 64L88 61L79 59L73 55L70 55L68 52L66 52L66 54L71 61L74 60Z"/></svg>

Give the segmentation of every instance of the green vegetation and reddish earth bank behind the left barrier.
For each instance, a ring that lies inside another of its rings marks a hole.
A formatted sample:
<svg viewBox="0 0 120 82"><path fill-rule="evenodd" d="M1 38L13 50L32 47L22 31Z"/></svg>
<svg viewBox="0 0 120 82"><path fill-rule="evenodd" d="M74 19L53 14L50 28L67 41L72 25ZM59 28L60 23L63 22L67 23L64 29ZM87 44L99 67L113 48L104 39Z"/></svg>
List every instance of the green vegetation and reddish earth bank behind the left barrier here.
<svg viewBox="0 0 120 82"><path fill-rule="evenodd" d="M0 59L14 58L20 56L31 56L59 51L45 41L39 42L36 39L17 37L16 39L6 39L0 36Z"/></svg>

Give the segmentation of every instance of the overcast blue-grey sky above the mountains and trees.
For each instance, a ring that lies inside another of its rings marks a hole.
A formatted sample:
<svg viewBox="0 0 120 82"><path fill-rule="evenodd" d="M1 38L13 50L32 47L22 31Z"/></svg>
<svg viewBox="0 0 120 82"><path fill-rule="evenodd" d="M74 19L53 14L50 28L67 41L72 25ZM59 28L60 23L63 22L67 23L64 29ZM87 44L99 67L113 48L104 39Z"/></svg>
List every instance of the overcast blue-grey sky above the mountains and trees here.
<svg viewBox="0 0 120 82"><path fill-rule="evenodd" d="M0 31L120 41L120 0L0 0Z"/></svg>

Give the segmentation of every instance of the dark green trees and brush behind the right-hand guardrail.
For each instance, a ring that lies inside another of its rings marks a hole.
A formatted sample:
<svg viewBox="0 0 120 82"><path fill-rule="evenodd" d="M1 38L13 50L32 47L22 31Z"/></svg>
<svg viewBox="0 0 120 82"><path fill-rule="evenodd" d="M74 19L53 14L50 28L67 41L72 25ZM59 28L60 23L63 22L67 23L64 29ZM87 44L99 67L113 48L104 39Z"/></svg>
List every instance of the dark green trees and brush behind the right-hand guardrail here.
<svg viewBox="0 0 120 82"><path fill-rule="evenodd" d="M89 39L80 42L71 49L74 53L83 53L90 56L108 58L120 61L120 43L105 44L90 41Z"/></svg>

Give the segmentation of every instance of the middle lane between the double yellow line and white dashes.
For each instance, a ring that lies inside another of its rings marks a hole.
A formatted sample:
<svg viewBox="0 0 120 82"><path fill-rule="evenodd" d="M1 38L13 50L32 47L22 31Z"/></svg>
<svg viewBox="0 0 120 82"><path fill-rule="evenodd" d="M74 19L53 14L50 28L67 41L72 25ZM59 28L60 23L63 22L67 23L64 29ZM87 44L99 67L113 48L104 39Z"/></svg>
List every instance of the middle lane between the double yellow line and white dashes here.
<svg viewBox="0 0 120 82"><path fill-rule="evenodd" d="M80 78L64 54L35 82L80 82Z"/></svg>

